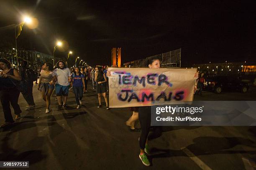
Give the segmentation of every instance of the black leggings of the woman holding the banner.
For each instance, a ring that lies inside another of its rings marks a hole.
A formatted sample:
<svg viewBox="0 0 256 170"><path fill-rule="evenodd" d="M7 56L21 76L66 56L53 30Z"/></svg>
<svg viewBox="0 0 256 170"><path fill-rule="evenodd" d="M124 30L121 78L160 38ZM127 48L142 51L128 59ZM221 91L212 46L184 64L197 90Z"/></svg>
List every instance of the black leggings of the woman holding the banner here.
<svg viewBox="0 0 256 170"><path fill-rule="evenodd" d="M150 106L139 107L138 113L139 113L138 114L139 120L141 123L141 137L140 137L139 143L140 143L140 148L144 150L147 139L151 140L154 138L158 138L161 135L161 126L154 126L153 134L150 134L150 136L148 136L149 129L151 126L151 107Z"/></svg>

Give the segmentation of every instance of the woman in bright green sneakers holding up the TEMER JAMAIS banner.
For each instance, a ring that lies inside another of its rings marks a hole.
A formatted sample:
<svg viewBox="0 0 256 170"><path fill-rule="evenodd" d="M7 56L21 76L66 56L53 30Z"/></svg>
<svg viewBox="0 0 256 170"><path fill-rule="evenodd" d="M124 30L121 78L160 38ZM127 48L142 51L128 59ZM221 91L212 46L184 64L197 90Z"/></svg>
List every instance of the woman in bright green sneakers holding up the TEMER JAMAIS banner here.
<svg viewBox="0 0 256 170"><path fill-rule="evenodd" d="M160 60L157 57L151 57L148 59L146 66L149 68L160 68ZM148 151L148 133L151 124L151 107L139 107L138 116L141 123L141 136L139 138L139 144L141 148L141 153L139 158L141 159L143 165L150 166L150 162L145 153L149 154ZM155 130L160 131L160 128L156 128Z"/></svg>

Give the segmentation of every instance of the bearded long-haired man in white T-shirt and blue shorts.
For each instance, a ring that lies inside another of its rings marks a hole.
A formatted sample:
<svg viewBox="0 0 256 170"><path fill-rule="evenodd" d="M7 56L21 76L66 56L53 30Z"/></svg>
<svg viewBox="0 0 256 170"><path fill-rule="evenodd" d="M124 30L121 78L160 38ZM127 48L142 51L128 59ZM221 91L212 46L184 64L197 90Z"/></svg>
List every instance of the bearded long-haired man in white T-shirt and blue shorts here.
<svg viewBox="0 0 256 170"><path fill-rule="evenodd" d="M54 70L54 73L57 77L55 90L56 96L58 100L58 109L61 109L61 97L63 98L63 105L62 107L65 109L67 108L67 97L69 95L69 85L71 81L71 72L69 68L67 68L64 61L60 60L56 63L57 68Z"/></svg>

